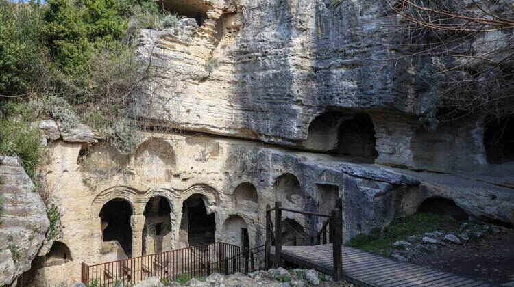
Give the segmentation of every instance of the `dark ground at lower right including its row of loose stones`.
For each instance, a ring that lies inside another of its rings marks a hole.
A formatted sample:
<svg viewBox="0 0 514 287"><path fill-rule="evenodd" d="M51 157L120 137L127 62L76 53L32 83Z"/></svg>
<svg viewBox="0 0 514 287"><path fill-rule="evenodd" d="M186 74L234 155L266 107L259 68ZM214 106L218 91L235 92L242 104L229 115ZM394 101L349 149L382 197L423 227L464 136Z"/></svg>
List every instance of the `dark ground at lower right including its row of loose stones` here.
<svg viewBox="0 0 514 287"><path fill-rule="evenodd" d="M492 284L514 281L514 230L465 222L396 241L389 251L400 261L429 266Z"/></svg>

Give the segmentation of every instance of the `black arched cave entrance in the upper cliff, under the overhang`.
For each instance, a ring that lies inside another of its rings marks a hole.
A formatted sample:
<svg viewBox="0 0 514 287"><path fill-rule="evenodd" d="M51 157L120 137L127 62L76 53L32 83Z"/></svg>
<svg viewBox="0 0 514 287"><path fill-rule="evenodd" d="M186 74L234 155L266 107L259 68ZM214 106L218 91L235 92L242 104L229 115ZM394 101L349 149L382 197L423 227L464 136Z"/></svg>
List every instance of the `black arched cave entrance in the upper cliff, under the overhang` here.
<svg viewBox="0 0 514 287"><path fill-rule="evenodd" d="M375 146L375 126L369 115L358 113L339 126L336 153L374 161L378 156Z"/></svg>

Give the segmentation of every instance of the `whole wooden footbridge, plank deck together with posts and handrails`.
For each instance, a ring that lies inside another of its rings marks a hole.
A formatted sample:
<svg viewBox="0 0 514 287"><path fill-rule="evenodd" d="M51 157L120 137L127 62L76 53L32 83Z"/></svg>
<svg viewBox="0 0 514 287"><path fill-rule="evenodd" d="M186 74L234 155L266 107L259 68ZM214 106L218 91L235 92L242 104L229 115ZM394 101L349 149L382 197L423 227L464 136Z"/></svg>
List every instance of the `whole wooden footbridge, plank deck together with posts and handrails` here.
<svg viewBox="0 0 514 287"><path fill-rule="evenodd" d="M340 203L338 204L340 205ZM311 236L308 246L282 246L282 212L299 213L306 216L325 217L327 220L316 236ZM275 213L275 228L271 222ZM459 277L436 269L416 264L398 262L351 247L342 246L341 210L336 208L330 215L310 213L302 210L267 206L266 211L266 265L279 267L284 262L299 267L315 269L345 279L361 286L372 287L489 287L485 282ZM327 230L328 227L328 230ZM327 236L328 233L328 236ZM326 242L327 237L329 243Z"/></svg>

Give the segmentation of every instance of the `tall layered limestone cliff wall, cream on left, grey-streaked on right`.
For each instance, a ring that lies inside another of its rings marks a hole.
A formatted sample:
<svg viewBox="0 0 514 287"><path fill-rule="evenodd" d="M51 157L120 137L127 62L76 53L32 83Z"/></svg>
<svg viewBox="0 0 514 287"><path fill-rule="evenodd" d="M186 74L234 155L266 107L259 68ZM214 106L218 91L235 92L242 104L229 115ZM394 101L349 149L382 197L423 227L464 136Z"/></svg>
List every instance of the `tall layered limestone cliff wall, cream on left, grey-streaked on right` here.
<svg viewBox="0 0 514 287"><path fill-rule="evenodd" d="M201 2L201 0L197 0ZM173 1L170 1L173 2ZM194 1L193 1L194 2ZM149 97L180 102L185 129L295 145L324 111L421 113L414 67L394 52L378 1L225 1L202 27L143 31L140 53L157 66ZM210 59L219 68L206 71ZM172 88L173 87L173 88ZM162 114L146 111L149 118Z"/></svg>

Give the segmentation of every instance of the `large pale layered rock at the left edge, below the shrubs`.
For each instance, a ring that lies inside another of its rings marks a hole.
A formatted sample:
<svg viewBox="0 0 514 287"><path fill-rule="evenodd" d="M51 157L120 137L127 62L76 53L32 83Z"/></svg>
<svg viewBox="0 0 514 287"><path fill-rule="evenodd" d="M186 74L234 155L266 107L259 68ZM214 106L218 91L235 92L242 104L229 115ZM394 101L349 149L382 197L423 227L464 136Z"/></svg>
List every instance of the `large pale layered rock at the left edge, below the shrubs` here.
<svg viewBox="0 0 514 287"><path fill-rule="evenodd" d="M0 178L0 286L5 286L30 269L49 221L18 158L0 156Z"/></svg>

